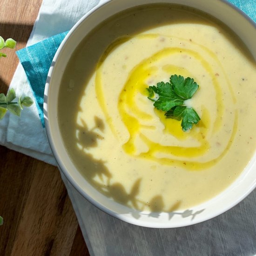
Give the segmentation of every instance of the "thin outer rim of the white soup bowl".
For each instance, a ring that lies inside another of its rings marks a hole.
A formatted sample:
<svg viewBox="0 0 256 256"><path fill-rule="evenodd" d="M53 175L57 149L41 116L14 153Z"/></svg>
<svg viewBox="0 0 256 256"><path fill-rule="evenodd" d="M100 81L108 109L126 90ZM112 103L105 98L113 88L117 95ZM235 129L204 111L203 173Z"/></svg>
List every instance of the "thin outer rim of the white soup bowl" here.
<svg viewBox="0 0 256 256"><path fill-rule="evenodd" d="M229 7L235 9L240 15L243 16L243 18L245 18L247 21L249 21L256 29L256 23L249 18L249 16L244 13L241 9L239 9L238 7L234 6L233 4L231 4L228 0L218 0L219 2L222 2L226 5L228 5ZM188 226L188 225L194 225L196 223L200 223L200 222L204 222L207 221L211 218L214 218L216 216L221 215L222 213L226 212L227 210L233 208L236 204L238 204L239 202L241 202L247 195L249 195L253 189L256 188L256 182L253 186L251 186L249 189L246 190L245 193L243 193L243 195L241 195L235 202L227 205L226 207L222 208L221 210L219 210L218 212L213 213L211 216L205 216L204 218L200 218L200 219L194 219L192 221L189 222L189 224L187 224L186 222L183 224L179 224L179 225L175 225L174 223L172 223L171 225L169 225L169 223L161 223L161 222L141 222L140 220L137 220L135 218L130 218L127 217L125 215L121 215L119 213L116 213L115 211L106 208L104 205L102 205L100 202L96 201L93 197L89 196L78 184L77 182L74 180L74 178L72 177L72 175L69 173L69 171L66 169L66 167L64 166L62 160L61 160L61 156L59 155L58 151L56 150L55 147L55 143L54 143L54 139L52 136L52 132L51 132L51 126L49 124L48 121L48 108L47 108L47 101L48 101L48 91L49 91L49 86L50 86L50 81L51 81L51 77L52 74L54 72L54 63L58 60L59 55L61 54L61 51L63 49L63 47L66 45L67 41L69 40L69 38L72 36L72 34L74 33L74 31L77 29L77 27L79 27L81 25L82 22L84 22L84 20L87 19L88 16L90 16L91 14L93 14L96 10L98 10L99 8L103 7L104 5L108 4L109 2L112 2L112 0L101 0L100 3L95 6L94 8L92 8L88 13L86 13L85 15L83 15L81 17L80 20L78 20L78 22L72 27L72 29L67 33L66 37L64 38L64 40L61 42L60 47L58 48L56 54L54 55L54 59L53 59L53 64L48 72L47 75L47 82L46 82L46 87L45 87L45 92L44 95L46 97L44 97L44 104L43 104L43 109L44 109L44 117L45 117L45 127L46 127L46 134L47 134L47 139L49 141L49 145L50 148L53 152L54 158L56 159L56 162L58 164L58 167L60 169L60 171L62 172L62 174L67 178L67 180L71 183L71 185L74 187L74 189L76 189L84 198L86 198L89 202L91 202L94 206L96 206L98 209L101 209L102 211L108 213L110 216L113 216L121 221L124 222L128 222L130 224L135 224L138 226L143 226L143 227L148 227L148 228L177 228L177 227L184 227L184 226Z"/></svg>

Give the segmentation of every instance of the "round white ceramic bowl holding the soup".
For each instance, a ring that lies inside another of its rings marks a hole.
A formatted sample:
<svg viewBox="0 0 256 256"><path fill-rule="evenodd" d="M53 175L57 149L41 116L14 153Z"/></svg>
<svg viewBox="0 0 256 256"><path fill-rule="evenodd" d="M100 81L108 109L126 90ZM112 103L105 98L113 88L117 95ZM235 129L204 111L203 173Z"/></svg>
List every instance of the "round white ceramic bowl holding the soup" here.
<svg viewBox="0 0 256 256"><path fill-rule="evenodd" d="M67 62L81 40L101 21L126 8L146 3L176 3L195 7L228 25L243 40L256 59L256 26L239 9L223 0L110 0L92 9L67 34L49 70L44 100L47 137L59 168L69 182L96 207L123 221L144 227L175 228L209 220L243 200L256 187L256 155L242 174L221 194L185 211L150 213L130 209L114 202L92 187L71 162L61 139L57 102L61 77Z"/></svg>

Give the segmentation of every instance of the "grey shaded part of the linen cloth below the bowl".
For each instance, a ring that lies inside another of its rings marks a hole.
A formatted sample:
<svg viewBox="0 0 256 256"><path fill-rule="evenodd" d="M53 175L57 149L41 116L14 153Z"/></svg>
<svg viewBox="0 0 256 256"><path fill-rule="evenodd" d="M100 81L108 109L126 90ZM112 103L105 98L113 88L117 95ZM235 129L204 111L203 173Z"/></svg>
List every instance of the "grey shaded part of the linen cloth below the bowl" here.
<svg viewBox="0 0 256 256"><path fill-rule="evenodd" d="M209 221L151 229L120 221L94 207L62 175L91 256L256 255L256 189Z"/></svg>

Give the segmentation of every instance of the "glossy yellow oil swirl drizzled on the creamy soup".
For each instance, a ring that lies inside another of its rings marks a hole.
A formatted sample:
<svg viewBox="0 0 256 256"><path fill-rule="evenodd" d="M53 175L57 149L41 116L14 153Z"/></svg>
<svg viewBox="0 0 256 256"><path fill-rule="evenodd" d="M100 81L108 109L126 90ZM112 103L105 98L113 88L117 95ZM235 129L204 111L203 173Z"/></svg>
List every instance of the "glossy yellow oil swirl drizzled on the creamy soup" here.
<svg viewBox="0 0 256 256"><path fill-rule="evenodd" d="M137 36L136 38L143 39L145 37L156 38L159 37L159 34L144 34ZM112 117L108 113L102 88L102 64L106 60L108 54L110 54L113 50L115 50L116 47L119 47L121 44L127 42L128 40L131 40L131 38L121 38L119 40L114 41L108 47L108 49L101 57L101 60L99 61L95 77L95 90L97 99L106 117L106 121L108 122L109 127L115 135L117 134L117 131L115 130ZM206 47L201 47L203 50L208 52L208 54L216 61L216 63L223 70L220 61L217 60L216 56ZM159 62L162 58L171 58L171 56L175 54L180 54L180 52L189 55L196 61L199 61L202 67L205 69L205 71L209 74L209 77L211 78L212 84L215 89L217 112L213 125L213 133L215 133L222 127L222 116L224 112L223 92L220 83L216 78L215 72L213 71L209 62L206 61L201 54L194 50L182 47L166 47L156 52L155 54L152 54L149 58L144 59L138 65L136 65L129 73L128 79L124 84L123 88L121 89L117 107L119 110L121 120L127 128L129 134L128 141L124 143L122 147L124 152L126 152L128 155L133 155L134 157L155 161L164 165L180 166L182 168L186 168L189 170L200 170L213 166L214 164L216 164L216 162L220 161L220 159L227 153L236 135L238 119L237 111L229 141L224 150L222 151L222 153L212 160L206 162L198 162L193 160L193 158L206 154L209 151L209 148L211 147L209 141L207 140L207 136L209 135L210 114L207 108L205 108L205 106L201 106L201 121L198 123L197 129L192 129L189 133L184 133L182 131L180 121L166 119L162 111L158 111L155 109L155 115L159 118L159 121L164 126L164 129L162 131L163 134L172 135L179 141L184 141L189 137L193 137L193 139L196 141L196 146L184 147L162 145L159 142L150 140L148 136L143 134L143 129L155 129L155 126L153 124L144 124L145 122L152 120L154 117L148 114L147 112L142 111L141 108L139 108L136 104L136 95L144 95L145 97L146 88L148 88L148 78L157 74L159 70L159 67L157 67L156 63ZM165 65L162 67L162 71L166 72L168 75L181 74L183 76L193 77L193 74L190 74L189 70L183 67L177 67L175 65ZM226 75L225 77L227 78ZM228 81L227 83L229 84ZM234 94L230 88L230 85L229 89L231 97L233 97L233 101L235 101ZM145 99L147 100L146 97ZM141 141L143 141L143 143L147 146L147 152L138 152L138 149L135 146L135 141L138 138ZM164 156L159 156L161 154Z"/></svg>

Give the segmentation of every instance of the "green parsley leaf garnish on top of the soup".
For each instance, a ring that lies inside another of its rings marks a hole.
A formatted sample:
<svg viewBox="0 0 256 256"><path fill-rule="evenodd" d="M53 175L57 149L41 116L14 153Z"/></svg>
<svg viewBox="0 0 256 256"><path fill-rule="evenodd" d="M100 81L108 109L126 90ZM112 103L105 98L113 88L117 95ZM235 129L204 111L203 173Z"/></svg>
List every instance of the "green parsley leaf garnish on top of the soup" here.
<svg viewBox="0 0 256 256"><path fill-rule="evenodd" d="M182 120L182 130L188 131L193 124L197 124L200 117L194 108L187 108L184 101L189 100L195 94L199 85L193 78L172 75L170 82L157 83L157 86L149 86L148 99L154 101L155 108L165 111L167 118Z"/></svg>

